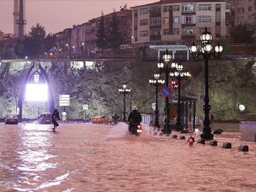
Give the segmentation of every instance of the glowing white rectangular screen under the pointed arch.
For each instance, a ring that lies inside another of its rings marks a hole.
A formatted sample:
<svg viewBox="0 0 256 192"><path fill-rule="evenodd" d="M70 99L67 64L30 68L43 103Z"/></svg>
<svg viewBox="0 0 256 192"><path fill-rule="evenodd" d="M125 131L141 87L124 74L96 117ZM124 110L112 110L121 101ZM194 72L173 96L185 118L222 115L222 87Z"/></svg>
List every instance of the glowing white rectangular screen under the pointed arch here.
<svg viewBox="0 0 256 192"><path fill-rule="evenodd" d="M47 102L48 84L26 84L25 100L27 102Z"/></svg>

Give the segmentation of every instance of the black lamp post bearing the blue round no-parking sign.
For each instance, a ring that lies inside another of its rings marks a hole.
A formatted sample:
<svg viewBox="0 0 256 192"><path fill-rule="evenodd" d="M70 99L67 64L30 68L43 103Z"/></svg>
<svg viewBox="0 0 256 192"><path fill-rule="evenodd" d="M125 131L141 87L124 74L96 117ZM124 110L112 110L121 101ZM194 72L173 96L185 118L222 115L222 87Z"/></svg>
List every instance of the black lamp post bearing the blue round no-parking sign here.
<svg viewBox="0 0 256 192"><path fill-rule="evenodd" d="M169 63L172 61L172 55L168 52L168 49L166 49L166 53L163 55L163 61L159 62L157 64L157 67L160 70L160 73L166 74L166 87L169 86L169 73L171 73L174 68L176 67L176 63L172 62L171 66ZM170 134L172 133L170 126L169 126L169 98L166 96L166 123L165 123L165 133Z"/></svg>

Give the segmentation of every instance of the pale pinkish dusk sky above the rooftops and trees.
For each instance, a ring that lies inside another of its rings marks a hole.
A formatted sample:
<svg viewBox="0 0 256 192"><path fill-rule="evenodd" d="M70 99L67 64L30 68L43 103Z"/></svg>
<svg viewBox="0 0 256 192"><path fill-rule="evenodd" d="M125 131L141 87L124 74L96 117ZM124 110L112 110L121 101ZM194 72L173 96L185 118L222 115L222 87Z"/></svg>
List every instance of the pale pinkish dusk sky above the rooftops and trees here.
<svg viewBox="0 0 256 192"><path fill-rule="evenodd" d="M61 32L73 25L118 11L120 6L131 8L136 5L158 2L159 0L25 0L26 32L39 23L46 33ZM14 32L14 0L0 0L0 30Z"/></svg>

